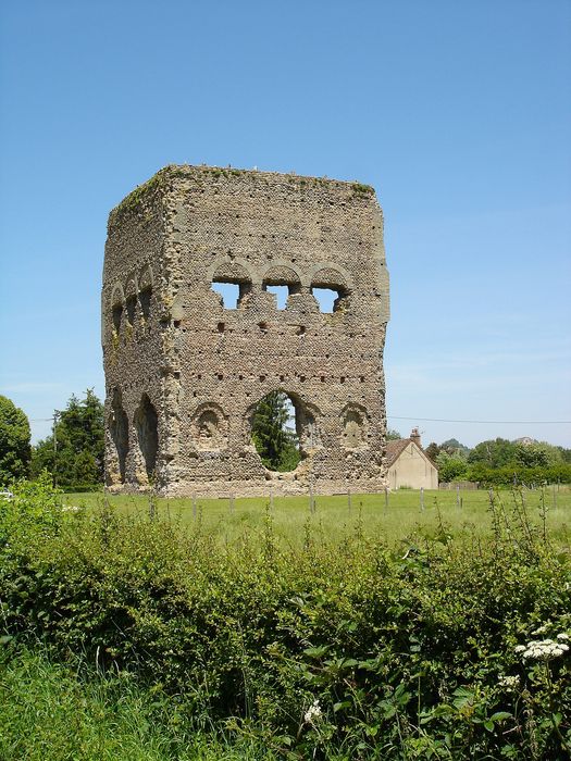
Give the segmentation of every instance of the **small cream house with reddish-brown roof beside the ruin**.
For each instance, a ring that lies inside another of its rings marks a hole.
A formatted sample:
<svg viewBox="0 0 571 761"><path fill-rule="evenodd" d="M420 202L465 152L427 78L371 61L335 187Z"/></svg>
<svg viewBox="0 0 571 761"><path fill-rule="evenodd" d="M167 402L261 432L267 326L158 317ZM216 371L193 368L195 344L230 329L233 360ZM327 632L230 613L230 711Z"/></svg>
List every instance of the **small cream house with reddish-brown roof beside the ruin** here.
<svg viewBox="0 0 571 761"><path fill-rule="evenodd" d="M418 428L409 438L387 441L385 458L390 489L438 488L438 469L422 448Z"/></svg>

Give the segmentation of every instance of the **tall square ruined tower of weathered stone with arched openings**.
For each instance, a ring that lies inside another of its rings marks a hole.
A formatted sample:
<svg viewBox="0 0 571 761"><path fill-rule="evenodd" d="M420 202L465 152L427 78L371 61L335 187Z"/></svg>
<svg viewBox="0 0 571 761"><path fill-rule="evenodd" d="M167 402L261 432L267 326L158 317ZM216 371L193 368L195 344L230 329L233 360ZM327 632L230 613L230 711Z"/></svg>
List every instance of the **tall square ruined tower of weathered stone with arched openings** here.
<svg viewBox="0 0 571 761"><path fill-rule="evenodd" d="M212 284L237 286L226 307ZM278 309L270 286L287 287ZM315 288L336 291L332 313ZM102 288L112 491L384 488L383 216L357 183L166 166L109 217ZM301 461L269 471L257 403L285 391Z"/></svg>

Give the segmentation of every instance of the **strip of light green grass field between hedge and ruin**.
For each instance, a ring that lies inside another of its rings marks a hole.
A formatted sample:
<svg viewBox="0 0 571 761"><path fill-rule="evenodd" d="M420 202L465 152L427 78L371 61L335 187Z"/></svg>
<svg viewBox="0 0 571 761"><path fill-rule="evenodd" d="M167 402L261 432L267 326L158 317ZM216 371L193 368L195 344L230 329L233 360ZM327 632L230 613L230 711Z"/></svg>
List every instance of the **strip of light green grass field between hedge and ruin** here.
<svg viewBox="0 0 571 761"><path fill-rule="evenodd" d="M571 488L549 486L544 489L493 492L496 510L501 513L502 528L517 528L527 522L532 531L544 528L564 545L571 544ZM97 509L104 504L132 516L145 516L154 511L160 517L201 531L222 542L239 539L245 533L263 536L268 521L274 537L286 544L299 545L309 537L338 542L348 534L382 538L389 545L412 541L413 537L434 536L444 525L446 533L466 537L488 534L493 529L491 492L488 490L398 490L388 497L380 495L347 495L314 497L311 509L309 496L151 500L148 495L110 496L100 492L67 494L64 504Z"/></svg>

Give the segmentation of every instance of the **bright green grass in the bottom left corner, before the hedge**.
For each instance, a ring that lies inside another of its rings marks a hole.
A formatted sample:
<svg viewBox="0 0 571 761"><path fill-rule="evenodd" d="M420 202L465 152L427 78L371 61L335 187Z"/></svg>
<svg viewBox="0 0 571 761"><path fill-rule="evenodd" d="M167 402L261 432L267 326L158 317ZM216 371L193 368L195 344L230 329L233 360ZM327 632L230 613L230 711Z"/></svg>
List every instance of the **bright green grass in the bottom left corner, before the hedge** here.
<svg viewBox="0 0 571 761"><path fill-rule="evenodd" d="M2 761L271 761L258 739L196 726L184 701L129 673L0 652Z"/></svg>

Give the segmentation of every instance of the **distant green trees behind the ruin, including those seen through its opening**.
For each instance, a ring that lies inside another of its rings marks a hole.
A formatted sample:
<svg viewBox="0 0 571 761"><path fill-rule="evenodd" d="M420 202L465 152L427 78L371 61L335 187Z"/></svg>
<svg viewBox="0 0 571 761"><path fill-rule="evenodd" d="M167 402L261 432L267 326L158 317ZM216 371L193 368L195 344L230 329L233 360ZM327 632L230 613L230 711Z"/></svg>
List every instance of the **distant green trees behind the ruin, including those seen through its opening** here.
<svg viewBox="0 0 571 761"><path fill-rule="evenodd" d="M290 470L298 458L295 441L285 427L285 395L262 400L253 438L262 462L272 470ZM26 414L0 396L0 486L22 477L37 478L44 471L66 491L100 489L104 476L103 404L88 389L83 399L72 396L64 410L54 413L51 436L30 446ZM388 431L387 438L401 438ZM443 483L472 481L483 486L571 483L571 449L546 441L489 439L470 449L455 438L432 442L426 454L438 467Z"/></svg>

